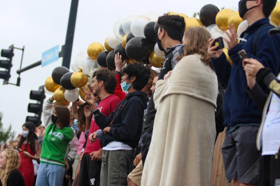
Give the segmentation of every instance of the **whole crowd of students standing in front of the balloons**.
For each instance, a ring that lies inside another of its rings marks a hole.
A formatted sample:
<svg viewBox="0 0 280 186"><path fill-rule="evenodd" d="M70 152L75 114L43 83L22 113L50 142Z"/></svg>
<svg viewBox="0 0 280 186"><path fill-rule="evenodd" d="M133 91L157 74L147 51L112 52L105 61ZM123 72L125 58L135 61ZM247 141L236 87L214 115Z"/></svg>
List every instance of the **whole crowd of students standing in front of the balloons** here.
<svg viewBox="0 0 280 186"><path fill-rule="evenodd" d="M1 183L210 185L222 101L227 182L280 185L280 27L268 19L275 4L239 2L249 27L240 42L233 25L226 32L232 65L207 29L184 31L183 17L160 16L160 73L116 54L116 69L95 71L91 90L82 88L85 102L46 99L44 126L26 122L17 141L1 146Z"/></svg>

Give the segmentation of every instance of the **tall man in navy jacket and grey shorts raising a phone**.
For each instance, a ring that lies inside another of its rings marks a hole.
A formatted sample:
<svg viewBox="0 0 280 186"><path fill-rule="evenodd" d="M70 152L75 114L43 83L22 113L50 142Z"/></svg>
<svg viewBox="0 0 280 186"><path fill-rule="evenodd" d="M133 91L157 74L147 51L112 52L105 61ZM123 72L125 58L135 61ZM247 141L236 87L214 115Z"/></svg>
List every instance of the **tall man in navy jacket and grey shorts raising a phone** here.
<svg viewBox="0 0 280 186"><path fill-rule="evenodd" d="M224 125L227 127L222 155L227 182L234 179L235 185L256 185L259 178L260 151L255 142L259 130L262 111L251 100L246 91L247 81L238 52L244 49L248 58L257 59L265 67L279 72L280 36L268 36L268 16L275 7L276 0L241 0L239 15L248 21L249 27L241 34L245 40L238 43L234 25L229 26L228 39L232 66L222 50L215 50L214 38L210 39L208 52L218 78L227 86L223 104ZM262 86L265 93L269 90Z"/></svg>

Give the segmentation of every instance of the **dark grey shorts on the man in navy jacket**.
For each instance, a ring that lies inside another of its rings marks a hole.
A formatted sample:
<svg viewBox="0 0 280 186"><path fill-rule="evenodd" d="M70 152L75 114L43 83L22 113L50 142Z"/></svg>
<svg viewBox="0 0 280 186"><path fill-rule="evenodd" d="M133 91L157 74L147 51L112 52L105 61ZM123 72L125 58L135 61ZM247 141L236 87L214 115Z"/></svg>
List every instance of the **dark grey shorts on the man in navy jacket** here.
<svg viewBox="0 0 280 186"><path fill-rule="evenodd" d="M222 155L227 182L235 178L243 184L258 182L261 157L256 146L258 131L259 126L237 126L230 134L226 134Z"/></svg>

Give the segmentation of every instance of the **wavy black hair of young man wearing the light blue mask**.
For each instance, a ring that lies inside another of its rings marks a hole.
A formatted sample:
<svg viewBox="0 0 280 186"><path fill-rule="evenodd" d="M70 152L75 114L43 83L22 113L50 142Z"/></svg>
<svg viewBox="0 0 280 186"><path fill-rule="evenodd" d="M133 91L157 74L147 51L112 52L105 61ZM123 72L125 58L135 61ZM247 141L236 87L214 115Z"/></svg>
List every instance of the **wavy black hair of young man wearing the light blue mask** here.
<svg viewBox="0 0 280 186"><path fill-rule="evenodd" d="M132 83L132 87L137 91L141 91L144 88L144 86L147 85L151 74L150 68L140 63L128 64L123 69L123 72L128 75L128 79L133 76L136 77L136 79Z"/></svg>

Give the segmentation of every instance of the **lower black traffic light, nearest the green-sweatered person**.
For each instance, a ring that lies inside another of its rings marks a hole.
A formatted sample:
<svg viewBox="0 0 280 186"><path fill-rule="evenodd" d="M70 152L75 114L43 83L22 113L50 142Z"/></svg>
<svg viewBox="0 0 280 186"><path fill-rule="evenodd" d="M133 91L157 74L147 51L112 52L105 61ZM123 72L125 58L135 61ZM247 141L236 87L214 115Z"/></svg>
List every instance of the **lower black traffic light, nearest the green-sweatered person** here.
<svg viewBox="0 0 280 186"><path fill-rule="evenodd" d="M30 100L37 100L37 103L28 104L27 111L35 113L35 116L27 116L26 122L32 122L35 126L41 124L41 114L45 97L44 86L40 86L39 91L30 91Z"/></svg>

